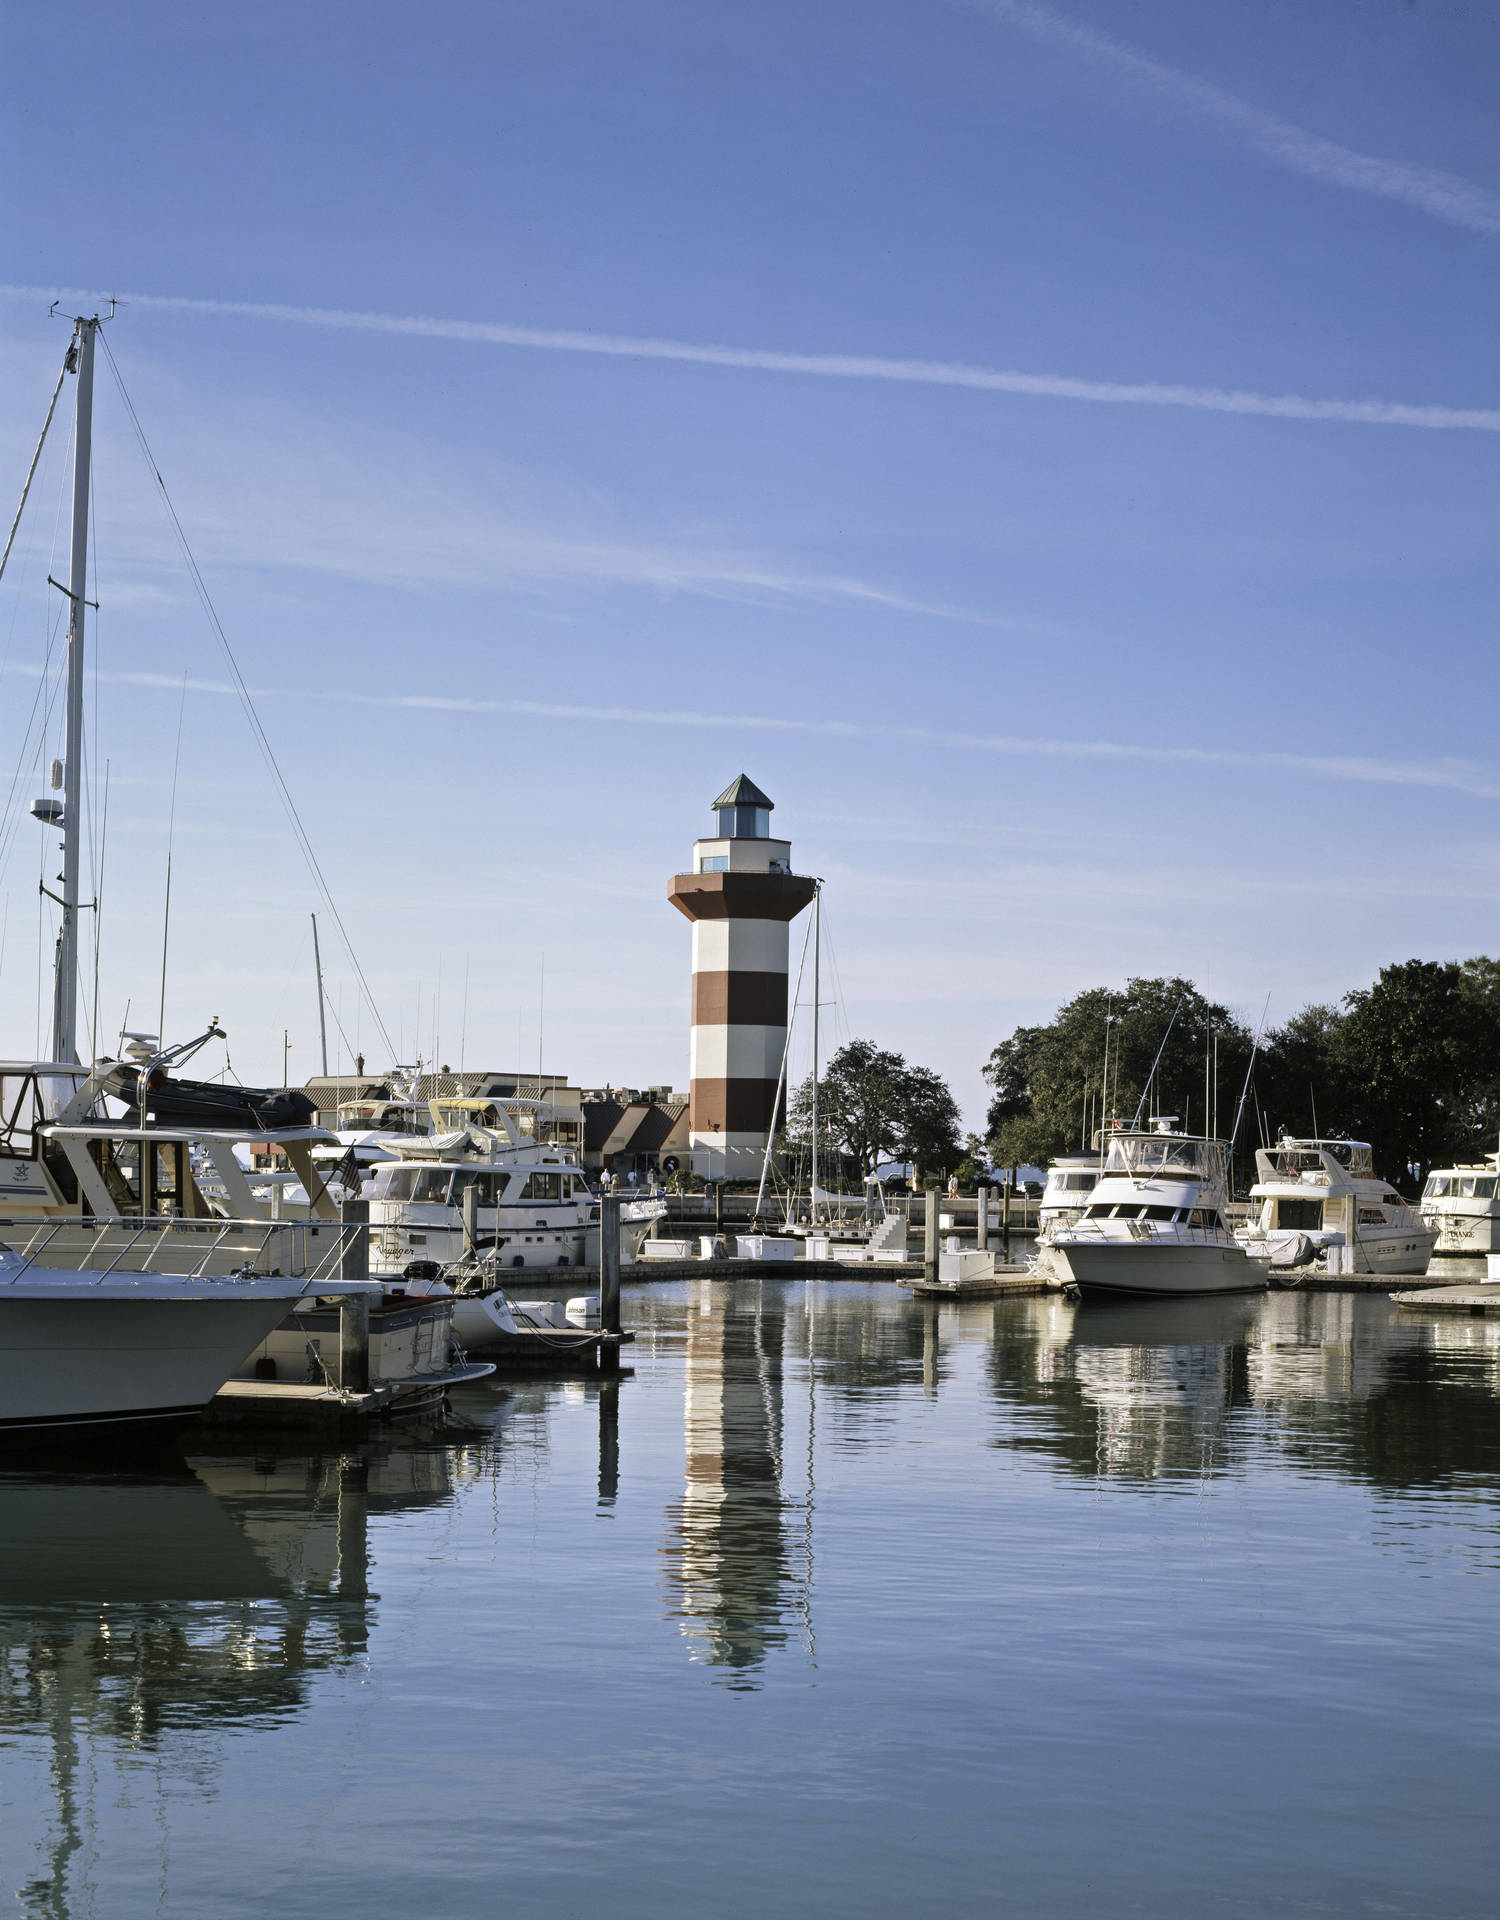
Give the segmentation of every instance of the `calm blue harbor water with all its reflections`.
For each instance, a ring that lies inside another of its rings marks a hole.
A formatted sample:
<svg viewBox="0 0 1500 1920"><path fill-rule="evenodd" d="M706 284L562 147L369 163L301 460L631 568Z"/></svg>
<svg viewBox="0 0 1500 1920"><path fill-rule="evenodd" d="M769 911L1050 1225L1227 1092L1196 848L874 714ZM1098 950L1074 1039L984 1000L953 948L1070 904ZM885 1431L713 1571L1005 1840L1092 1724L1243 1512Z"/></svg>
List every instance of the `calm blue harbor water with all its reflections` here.
<svg viewBox="0 0 1500 1920"><path fill-rule="evenodd" d="M1500 1908L1500 1323L626 1315L442 1436L0 1473L15 1910Z"/></svg>

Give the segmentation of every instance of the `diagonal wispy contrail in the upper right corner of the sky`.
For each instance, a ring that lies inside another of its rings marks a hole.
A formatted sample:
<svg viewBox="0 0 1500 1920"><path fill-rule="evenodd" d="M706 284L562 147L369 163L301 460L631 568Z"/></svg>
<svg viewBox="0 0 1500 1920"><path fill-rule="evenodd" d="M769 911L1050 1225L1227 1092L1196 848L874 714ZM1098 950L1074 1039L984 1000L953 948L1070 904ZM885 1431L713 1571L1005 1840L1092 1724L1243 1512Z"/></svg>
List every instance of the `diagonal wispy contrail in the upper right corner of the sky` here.
<svg viewBox="0 0 1500 1920"><path fill-rule="evenodd" d="M1035 6L1035 0L966 0L966 4L989 19L1018 27L1037 40L1064 46L1097 65L1110 67L1131 86L1147 88L1183 113L1222 127L1277 167L1302 173L1325 186L1344 186L1356 194L1396 200L1437 221L1446 221L1450 227L1500 234L1500 194L1492 194L1456 173L1412 165L1404 159L1383 159L1377 154L1360 154L1352 146L1325 140L1321 134L1277 119L1275 113L1268 113L1210 81L1149 60L1120 40L1095 33L1093 27L1079 27L1051 8Z"/></svg>

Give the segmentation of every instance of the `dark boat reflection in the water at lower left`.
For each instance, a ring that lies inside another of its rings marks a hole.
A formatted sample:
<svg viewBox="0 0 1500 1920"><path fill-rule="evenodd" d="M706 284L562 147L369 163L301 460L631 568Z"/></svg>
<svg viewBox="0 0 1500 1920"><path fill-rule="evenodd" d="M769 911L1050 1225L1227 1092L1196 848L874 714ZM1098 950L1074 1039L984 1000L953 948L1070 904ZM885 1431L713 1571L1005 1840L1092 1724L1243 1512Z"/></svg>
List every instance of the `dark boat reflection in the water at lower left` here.
<svg viewBox="0 0 1500 1920"><path fill-rule="evenodd" d="M8 1864L36 1860L29 1912L92 1912L96 1812L161 1793L111 1753L186 1738L202 1770L204 1734L300 1713L367 1655L369 1517L446 1500L449 1473L438 1448L371 1448L0 1476L0 1745L50 1780L44 1828L6 1824Z"/></svg>

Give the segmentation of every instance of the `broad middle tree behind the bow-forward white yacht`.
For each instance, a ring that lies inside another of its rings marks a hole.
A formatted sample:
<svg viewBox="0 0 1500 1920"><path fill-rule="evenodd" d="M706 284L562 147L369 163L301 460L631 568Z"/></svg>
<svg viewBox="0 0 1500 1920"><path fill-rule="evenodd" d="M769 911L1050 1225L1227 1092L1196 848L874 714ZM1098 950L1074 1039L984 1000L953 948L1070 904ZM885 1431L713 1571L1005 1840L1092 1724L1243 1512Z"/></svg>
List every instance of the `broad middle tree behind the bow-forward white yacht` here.
<svg viewBox="0 0 1500 1920"><path fill-rule="evenodd" d="M1214 1037L1218 1119L1227 1133L1252 1043L1229 1008L1206 1000L1193 981L1129 979L1124 993L1091 987L1045 1027L1018 1027L983 1069L993 1089L985 1131L995 1164L1047 1165L1056 1154L1087 1146L1104 1117L1129 1121L1158 1048L1149 1110L1175 1114L1187 1131L1208 1131Z"/></svg>

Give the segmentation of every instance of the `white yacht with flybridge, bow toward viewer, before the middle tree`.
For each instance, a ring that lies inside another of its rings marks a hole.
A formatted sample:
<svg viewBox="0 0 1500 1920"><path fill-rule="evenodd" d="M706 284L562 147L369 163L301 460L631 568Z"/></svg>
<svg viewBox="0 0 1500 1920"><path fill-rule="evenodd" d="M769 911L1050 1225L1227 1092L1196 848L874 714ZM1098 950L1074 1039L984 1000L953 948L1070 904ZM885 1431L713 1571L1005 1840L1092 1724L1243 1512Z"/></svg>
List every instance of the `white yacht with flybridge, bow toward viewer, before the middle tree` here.
<svg viewBox="0 0 1500 1920"><path fill-rule="evenodd" d="M1266 1267L1235 1240L1223 1140L1149 1129L1101 1133L1101 1165L1079 1219L1056 1227L1052 1271L1083 1294L1231 1294L1268 1284Z"/></svg>

